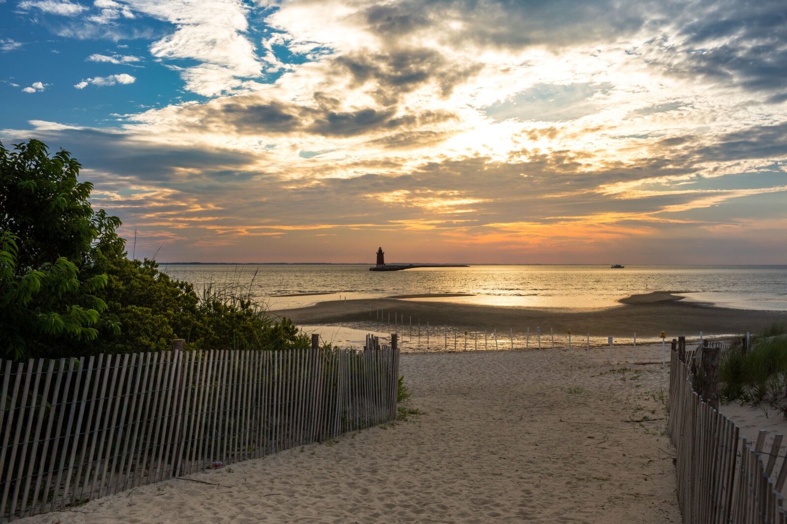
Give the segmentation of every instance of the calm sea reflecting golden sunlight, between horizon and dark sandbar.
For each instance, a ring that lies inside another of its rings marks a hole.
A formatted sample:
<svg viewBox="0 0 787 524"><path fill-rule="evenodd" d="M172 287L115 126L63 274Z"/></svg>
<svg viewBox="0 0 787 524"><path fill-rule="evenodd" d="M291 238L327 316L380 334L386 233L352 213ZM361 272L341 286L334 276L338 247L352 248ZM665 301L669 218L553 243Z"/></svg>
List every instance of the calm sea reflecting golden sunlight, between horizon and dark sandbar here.
<svg viewBox="0 0 787 524"><path fill-rule="evenodd" d="M787 310L787 266L471 266L374 272L370 266L162 265L198 289L238 284L273 309L338 299L469 293L430 300L496 306L601 308L648 291L754 310ZM283 296L301 293L325 295Z"/></svg>

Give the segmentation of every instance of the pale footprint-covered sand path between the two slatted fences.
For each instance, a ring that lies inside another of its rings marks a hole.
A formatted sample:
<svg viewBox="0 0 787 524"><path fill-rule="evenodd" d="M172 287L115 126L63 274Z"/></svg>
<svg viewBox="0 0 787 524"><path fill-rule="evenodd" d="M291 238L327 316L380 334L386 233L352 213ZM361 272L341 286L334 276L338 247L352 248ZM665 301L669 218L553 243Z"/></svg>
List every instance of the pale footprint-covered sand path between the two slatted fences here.
<svg viewBox="0 0 787 524"><path fill-rule="evenodd" d="M421 415L21 522L681 522L667 368L588 353L404 354Z"/></svg>

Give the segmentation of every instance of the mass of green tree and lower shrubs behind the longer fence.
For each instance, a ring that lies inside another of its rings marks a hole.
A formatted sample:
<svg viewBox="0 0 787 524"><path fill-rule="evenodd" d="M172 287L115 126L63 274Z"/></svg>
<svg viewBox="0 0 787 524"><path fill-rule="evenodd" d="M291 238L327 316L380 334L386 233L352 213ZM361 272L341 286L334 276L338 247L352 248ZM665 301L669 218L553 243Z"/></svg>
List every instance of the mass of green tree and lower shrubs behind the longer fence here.
<svg viewBox="0 0 787 524"><path fill-rule="evenodd" d="M0 358L187 348L286 349L309 339L242 290L205 289L127 258L69 152L0 143Z"/></svg>

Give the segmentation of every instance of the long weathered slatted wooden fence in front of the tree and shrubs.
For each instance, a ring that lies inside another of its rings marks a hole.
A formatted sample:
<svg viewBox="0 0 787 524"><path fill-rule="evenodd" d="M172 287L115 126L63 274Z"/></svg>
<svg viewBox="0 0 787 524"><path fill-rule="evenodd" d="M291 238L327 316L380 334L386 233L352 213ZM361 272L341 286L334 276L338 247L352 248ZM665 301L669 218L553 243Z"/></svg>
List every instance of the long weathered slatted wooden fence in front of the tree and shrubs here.
<svg viewBox="0 0 787 524"><path fill-rule="evenodd" d="M0 522L394 420L374 342L0 363Z"/></svg>

